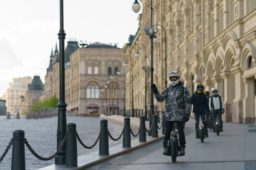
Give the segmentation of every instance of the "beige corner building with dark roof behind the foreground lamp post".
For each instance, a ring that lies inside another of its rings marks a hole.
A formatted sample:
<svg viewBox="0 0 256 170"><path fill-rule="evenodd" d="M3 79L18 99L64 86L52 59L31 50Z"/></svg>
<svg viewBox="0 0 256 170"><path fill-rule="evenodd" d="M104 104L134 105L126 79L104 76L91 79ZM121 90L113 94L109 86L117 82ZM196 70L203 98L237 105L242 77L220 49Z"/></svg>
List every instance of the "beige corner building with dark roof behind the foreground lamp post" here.
<svg viewBox="0 0 256 170"><path fill-rule="evenodd" d="M116 45L99 42L79 48L77 41L69 41L65 49L65 101L67 114L78 116L99 116L106 110L117 113L123 107L125 70L123 49ZM55 50L57 52L57 50ZM59 54L52 52L50 65L45 76L45 94L59 97ZM118 70L121 75L117 75ZM113 75L113 79L111 79ZM107 80L110 81L106 84ZM105 85L107 88L105 88ZM104 89L104 90L102 90ZM110 105L111 100L111 105ZM106 101L107 105L103 105Z"/></svg>

